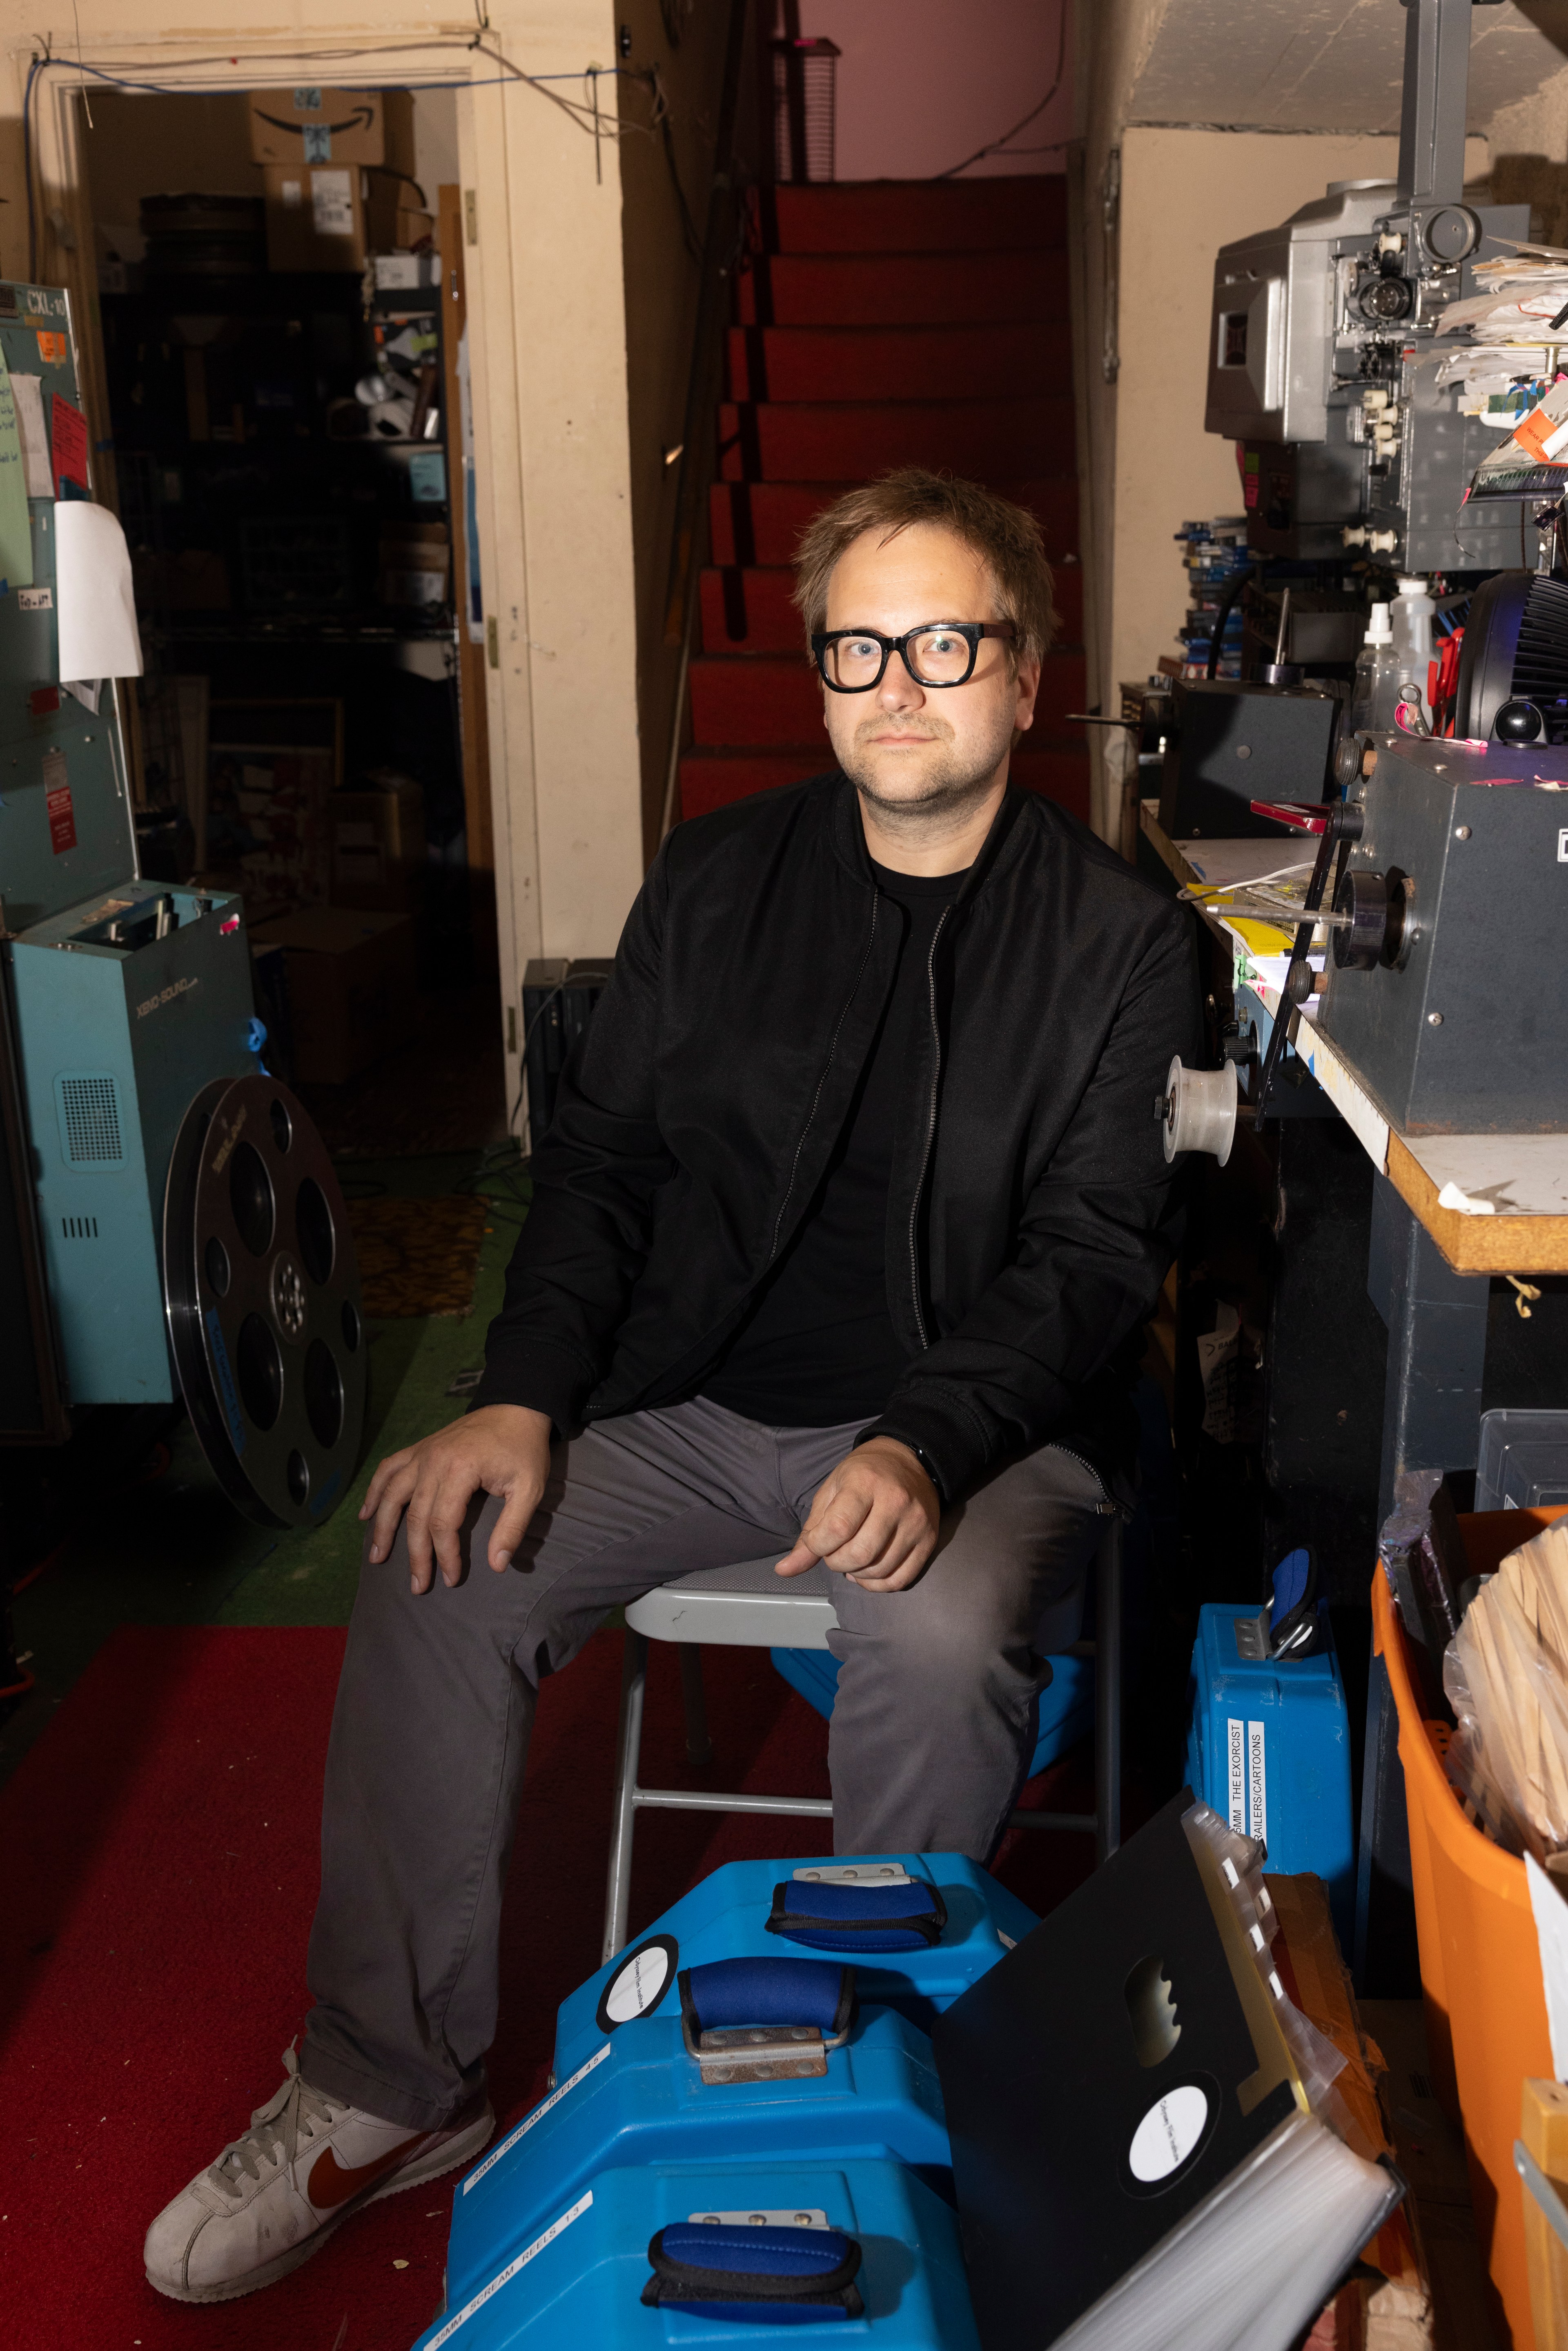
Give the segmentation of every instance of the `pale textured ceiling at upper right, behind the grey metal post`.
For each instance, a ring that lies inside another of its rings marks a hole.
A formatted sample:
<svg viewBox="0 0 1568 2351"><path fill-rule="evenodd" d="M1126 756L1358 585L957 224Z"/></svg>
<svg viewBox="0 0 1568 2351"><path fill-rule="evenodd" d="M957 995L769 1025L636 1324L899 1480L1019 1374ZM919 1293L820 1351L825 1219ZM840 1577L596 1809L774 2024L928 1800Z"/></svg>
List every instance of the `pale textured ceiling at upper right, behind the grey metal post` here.
<svg viewBox="0 0 1568 2351"><path fill-rule="evenodd" d="M1128 120L1396 132L1403 35L1399 0L1168 0ZM1568 0L1476 7L1472 132L1563 66Z"/></svg>

